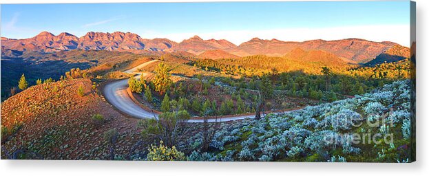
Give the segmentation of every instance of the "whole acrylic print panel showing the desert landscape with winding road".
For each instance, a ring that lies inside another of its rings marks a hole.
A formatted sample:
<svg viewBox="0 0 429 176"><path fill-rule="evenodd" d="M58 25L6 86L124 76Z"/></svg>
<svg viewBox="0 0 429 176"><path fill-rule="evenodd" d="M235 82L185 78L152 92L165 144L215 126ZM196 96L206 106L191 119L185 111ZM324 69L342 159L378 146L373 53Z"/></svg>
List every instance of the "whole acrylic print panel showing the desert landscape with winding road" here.
<svg viewBox="0 0 429 176"><path fill-rule="evenodd" d="M413 162L414 53L410 1L1 4L1 159Z"/></svg>

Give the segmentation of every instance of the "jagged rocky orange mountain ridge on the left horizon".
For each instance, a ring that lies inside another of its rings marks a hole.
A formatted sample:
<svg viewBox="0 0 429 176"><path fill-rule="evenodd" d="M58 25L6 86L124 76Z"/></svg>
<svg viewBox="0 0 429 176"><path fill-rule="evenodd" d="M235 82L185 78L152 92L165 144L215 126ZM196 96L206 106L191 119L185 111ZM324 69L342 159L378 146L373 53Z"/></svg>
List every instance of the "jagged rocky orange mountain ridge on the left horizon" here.
<svg viewBox="0 0 429 176"><path fill-rule="evenodd" d="M176 42L168 39L142 39L130 32L87 32L77 37L67 32L58 36L50 32L41 32L30 39L1 38L6 49L19 52L57 52L61 50L107 50L128 52L158 52L171 48Z"/></svg>

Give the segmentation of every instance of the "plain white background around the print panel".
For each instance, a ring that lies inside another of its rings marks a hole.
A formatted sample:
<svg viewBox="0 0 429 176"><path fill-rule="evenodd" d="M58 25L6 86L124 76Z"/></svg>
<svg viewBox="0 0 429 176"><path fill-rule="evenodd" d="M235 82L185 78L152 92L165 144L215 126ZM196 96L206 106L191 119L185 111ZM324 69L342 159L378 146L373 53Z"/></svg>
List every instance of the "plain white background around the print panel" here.
<svg viewBox="0 0 429 176"><path fill-rule="evenodd" d="M126 0L127 2L147 2ZM171 2L179 2L173 1ZM205 0L198 0L205 1ZM220 0L222 1L222 0ZM1 175L427 175L429 76L424 31L428 1L417 1L417 162L412 164L331 164L285 162L106 162L106 161L12 161L1 160ZM107 3L114 0L75 0L61 3ZM149 1L150 2L150 1ZM1 0L0 3L59 3L58 0ZM423 91L424 90L424 91ZM426 102L426 104L425 104Z"/></svg>

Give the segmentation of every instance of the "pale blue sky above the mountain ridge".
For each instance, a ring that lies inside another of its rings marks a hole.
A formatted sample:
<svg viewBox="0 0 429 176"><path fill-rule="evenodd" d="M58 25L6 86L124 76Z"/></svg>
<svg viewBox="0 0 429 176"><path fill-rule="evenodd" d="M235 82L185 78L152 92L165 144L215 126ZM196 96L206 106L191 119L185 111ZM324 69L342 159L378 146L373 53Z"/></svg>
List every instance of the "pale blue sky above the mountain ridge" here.
<svg viewBox="0 0 429 176"><path fill-rule="evenodd" d="M43 31L121 31L176 42L198 35L236 45L253 37L360 38L409 46L409 9L409 1L2 4L0 33L26 39Z"/></svg>

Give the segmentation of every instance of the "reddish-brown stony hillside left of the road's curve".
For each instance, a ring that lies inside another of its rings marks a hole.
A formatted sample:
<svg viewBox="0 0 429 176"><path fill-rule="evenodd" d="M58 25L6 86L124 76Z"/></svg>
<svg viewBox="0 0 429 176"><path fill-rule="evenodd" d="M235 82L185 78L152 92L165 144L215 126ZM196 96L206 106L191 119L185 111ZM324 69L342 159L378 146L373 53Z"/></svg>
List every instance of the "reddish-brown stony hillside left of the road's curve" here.
<svg viewBox="0 0 429 176"><path fill-rule="evenodd" d="M77 94L83 86L85 95ZM109 146L103 133L117 129L120 137L116 153L124 155L135 144L139 131L136 120L125 118L92 89L90 79L65 80L36 85L1 104L2 147L9 153L32 151L27 159L108 159ZM92 116L101 114L105 122L96 125ZM12 132L11 132L12 131ZM11 134L12 133L12 134ZM6 158L2 148L1 158Z"/></svg>

